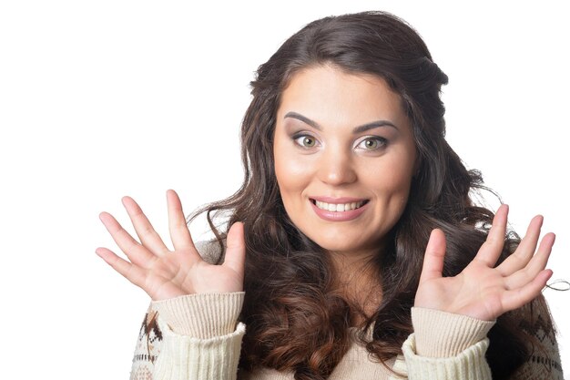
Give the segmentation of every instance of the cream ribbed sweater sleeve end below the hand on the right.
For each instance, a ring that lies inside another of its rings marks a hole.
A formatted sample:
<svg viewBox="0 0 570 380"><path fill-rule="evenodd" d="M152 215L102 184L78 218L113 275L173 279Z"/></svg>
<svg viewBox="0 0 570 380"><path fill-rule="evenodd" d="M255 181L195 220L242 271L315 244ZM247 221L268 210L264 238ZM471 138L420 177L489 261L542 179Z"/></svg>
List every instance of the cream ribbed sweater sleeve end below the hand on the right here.
<svg viewBox="0 0 570 380"><path fill-rule="evenodd" d="M491 380L485 353L494 322L412 308L412 325L414 333L402 345L410 380Z"/></svg>

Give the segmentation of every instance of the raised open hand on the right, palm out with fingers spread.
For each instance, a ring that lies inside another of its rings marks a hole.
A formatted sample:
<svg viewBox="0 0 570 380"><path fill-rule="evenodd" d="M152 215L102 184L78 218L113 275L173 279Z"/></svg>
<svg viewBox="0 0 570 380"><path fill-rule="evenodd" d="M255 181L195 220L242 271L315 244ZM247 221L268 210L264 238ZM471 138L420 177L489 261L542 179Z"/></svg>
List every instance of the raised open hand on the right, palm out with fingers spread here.
<svg viewBox="0 0 570 380"><path fill-rule="evenodd" d="M508 206L502 205L473 262L454 277L442 275L445 236L433 230L414 306L492 321L532 301L552 276L545 266L555 234L547 233L536 251L543 217L534 217L516 251L494 268L503 251L507 214Z"/></svg>

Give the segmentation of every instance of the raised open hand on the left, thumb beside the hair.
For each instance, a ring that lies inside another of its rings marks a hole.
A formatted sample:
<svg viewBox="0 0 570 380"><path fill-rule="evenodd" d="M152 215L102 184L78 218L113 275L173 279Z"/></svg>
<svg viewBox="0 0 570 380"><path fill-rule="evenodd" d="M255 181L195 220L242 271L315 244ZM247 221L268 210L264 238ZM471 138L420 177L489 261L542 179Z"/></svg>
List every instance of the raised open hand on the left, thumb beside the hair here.
<svg viewBox="0 0 570 380"><path fill-rule="evenodd" d="M193 293L242 292L245 262L243 223L234 223L229 229L224 263L211 265L202 260L194 246L174 190L167 191L167 201L168 229L174 251L168 250L137 202L124 197L123 205L140 242L125 231L111 214L101 212L99 218L129 261L107 248L97 248L97 255L148 293L153 301Z"/></svg>

